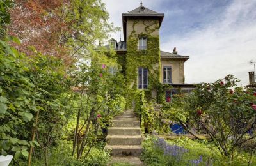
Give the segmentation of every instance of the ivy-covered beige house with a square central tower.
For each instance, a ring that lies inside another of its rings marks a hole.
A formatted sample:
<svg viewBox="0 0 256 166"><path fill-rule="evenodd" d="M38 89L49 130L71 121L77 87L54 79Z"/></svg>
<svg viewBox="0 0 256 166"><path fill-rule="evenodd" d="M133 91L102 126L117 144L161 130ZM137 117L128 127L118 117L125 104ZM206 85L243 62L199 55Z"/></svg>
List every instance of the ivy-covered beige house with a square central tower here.
<svg viewBox="0 0 256 166"><path fill-rule="evenodd" d="M159 29L164 19L141 5L122 14L124 41L109 40L109 49L118 55L127 80L128 101L145 91L146 98L163 98L168 102L172 94L191 91L195 85L185 84L184 63L189 56L181 56L176 48L173 52L160 50ZM170 88L172 87L172 88Z"/></svg>

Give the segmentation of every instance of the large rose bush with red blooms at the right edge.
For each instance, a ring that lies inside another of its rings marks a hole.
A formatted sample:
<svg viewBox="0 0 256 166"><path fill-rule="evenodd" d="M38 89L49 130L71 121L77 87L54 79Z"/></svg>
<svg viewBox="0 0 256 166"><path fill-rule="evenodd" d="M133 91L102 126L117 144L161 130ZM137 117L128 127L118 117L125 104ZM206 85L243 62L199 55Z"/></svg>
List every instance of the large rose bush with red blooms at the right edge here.
<svg viewBox="0 0 256 166"><path fill-rule="evenodd" d="M191 122L200 124L223 155L231 155L235 147L256 137L256 98L251 90L231 89L237 82L233 75L227 75L212 84L198 86L188 99Z"/></svg>

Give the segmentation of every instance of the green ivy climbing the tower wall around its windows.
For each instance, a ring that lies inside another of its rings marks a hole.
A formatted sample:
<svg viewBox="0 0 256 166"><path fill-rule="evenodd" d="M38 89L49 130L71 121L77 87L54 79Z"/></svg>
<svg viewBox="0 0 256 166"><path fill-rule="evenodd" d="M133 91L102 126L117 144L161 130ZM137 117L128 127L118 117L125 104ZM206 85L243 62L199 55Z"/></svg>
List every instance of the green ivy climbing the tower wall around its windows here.
<svg viewBox="0 0 256 166"><path fill-rule="evenodd" d="M143 21L143 20L141 20ZM126 81L127 81L127 106L134 106L140 91L137 88L138 68L148 69L148 89L144 89L145 98L152 98L152 91L157 92L160 82L160 44L159 36L152 36L152 33L159 29L157 20L146 23L143 21L145 29L143 33L136 33L135 26L140 20L134 19L131 35L127 40L126 55ZM147 50L138 50L138 38L147 38Z"/></svg>

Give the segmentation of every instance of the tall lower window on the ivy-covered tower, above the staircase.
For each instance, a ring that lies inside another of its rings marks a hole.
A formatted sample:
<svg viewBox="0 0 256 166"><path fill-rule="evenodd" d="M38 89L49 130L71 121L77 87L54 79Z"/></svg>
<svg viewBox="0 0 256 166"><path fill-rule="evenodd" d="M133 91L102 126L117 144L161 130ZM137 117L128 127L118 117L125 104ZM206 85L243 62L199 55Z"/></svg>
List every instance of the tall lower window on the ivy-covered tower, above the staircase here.
<svg viewBox="0 0 256 166"><path fill-rule="evenodd" d="M138 89L148 88L148 69L138 68Z"/></svg>

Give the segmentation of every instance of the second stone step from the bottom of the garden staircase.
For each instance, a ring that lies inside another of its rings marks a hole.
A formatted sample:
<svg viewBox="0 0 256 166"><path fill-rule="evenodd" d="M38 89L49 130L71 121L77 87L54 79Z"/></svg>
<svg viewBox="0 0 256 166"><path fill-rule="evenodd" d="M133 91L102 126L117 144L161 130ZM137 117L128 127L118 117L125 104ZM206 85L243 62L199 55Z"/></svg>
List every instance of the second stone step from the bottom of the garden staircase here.
<svg viewBox="0 0 256 166"><path fill-rule="evenodd" d="M141 135L108 135L106 137L109 145L140 145Z"/></svg>

